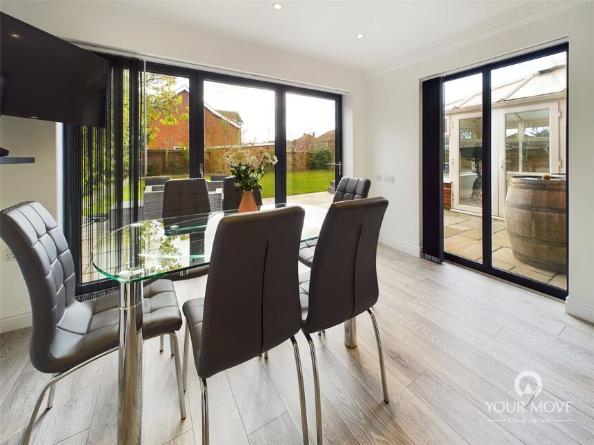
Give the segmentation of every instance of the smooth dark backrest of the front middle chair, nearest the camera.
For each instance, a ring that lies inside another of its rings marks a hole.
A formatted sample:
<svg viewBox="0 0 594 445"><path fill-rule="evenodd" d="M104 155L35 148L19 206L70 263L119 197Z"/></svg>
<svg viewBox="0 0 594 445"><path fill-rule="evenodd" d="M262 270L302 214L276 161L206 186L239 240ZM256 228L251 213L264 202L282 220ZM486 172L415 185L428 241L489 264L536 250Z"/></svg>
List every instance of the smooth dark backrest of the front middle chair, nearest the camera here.
<svg viewBox="0 0 594 445"><path fill-rule="evenodd" d="M301 207L225 216L208 269L198 375L246 362L301 327Z"/></svg>

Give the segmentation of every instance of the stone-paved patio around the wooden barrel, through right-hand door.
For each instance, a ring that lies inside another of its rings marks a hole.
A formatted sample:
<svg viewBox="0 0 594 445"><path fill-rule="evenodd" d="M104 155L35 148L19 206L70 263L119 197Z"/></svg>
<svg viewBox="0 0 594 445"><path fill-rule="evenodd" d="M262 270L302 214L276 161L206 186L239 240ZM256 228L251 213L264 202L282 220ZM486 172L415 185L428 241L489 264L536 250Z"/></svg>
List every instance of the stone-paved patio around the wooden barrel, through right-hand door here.
<svg viewBox="0 0 594 445"><path fill-rule="evenodd" d="M482 262L482 218L444 210L444 249L464 258ZM564 273L547 271L516 260L505 228L505 221L493 219L493 266L526 278L567 289Z"/></svg>

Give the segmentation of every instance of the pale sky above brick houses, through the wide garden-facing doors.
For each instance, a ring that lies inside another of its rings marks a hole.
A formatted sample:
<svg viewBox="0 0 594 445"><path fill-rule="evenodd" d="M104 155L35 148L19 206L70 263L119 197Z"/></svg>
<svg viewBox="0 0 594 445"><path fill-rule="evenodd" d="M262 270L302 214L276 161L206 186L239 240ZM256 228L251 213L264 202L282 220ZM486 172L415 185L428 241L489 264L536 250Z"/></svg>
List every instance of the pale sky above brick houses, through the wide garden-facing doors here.
<svg viewBox="0 0 594 445"><path fill-rule="evenodd" d="M176 87L188 86L179 78ZM275 140L275 92L262 88L204 82L204 101L215 110L237 111L244 121L244 142ZM320 136L335 129L335 102L299 94L287 94L287 139L304 133Z"/></svg>

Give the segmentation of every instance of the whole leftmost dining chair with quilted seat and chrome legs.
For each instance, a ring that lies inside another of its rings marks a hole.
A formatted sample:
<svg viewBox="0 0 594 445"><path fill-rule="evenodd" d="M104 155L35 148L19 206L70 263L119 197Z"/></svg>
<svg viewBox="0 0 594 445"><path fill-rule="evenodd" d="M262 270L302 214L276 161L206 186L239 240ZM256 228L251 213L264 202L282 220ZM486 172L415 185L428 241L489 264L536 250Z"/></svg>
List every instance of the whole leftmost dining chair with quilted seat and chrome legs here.
<svg viewBox="0 0 594 445"><path fill-rule="evenodd" d="M27 284L32 312L31 363L37 371L52 374L39 393L23 432L22 443L28 444L48 389L50 409L59 380L117 351L119 295L115 291L94 300L75 299L75 265L68 242L40 203L21 203L2 210L0 236L14 253ZM186 405L176 335L181 328L181 313L175 289L169 280L156 280L144 287L143 294L143 338L170 335L175 351L179 410L184 419Z"/></svg>

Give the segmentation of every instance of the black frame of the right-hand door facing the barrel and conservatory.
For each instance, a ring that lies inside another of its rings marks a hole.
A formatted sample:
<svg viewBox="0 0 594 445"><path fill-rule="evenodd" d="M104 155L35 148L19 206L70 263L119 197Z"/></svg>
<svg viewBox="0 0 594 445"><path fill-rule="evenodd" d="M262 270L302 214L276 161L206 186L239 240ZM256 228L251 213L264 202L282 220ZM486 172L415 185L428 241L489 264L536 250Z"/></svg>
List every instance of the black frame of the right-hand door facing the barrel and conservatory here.
<svg viewBox="0 0 594 445"><path fill-rule="evenodd" d="M475 269L477 271L481 271L491 276L495 276L497 278L502 278L503 280L513 282L515 284L519 284L521 286L527 287L528 289L533 289L535 291L545 293L546 295L553 296L555 298L560 298L565 300L568 296L568 289L569 289L569 280L567 280L567 289L560 289L558 287L553 287L549 284L539 282L537 280L532 280L531 278L526 278L524 276L516 275L515 273L511 273L505 271L504 269L497 269L493 267L492 264L492 256L491 256L491 245L492 245L492 234L491 234L491 217L492 217L492 210L491 209L491 201L492 201L492 175L491 175L491 71L497 68L504 68L509 65L515 65L517 63L522 63L525 61L530 61L533 59L538 59L539 57L549 56L551 54L557 54L560 52L566 52L566 72L569 72L569 45L568 43L560 43L559 45L553 45L548 48L543 48L542 50L537 50L533 52L528 52L526 54L521 54L519 56L513 56L508 59L504 59L502 61L496 61L493 63L486 63L485 65L479 66L477 68L472 68L470 70L465 70L462 72L457 72L455 74L450 74L448 76L442 77L442 84L447 81L452 81L454 79L460 79L466 76L472 76L473 74L482 74L482 121L483 121L483 165L482 165L482 235L483 235L483 256L482 256L482 264L473 260L469 260L468 258L464 258L462 256L456 255L455 253L451 253L448 251L444 251L445 259L451 262L455 262L459 265L463 265L470 269ZM566 102L565 106L565 174L566 174L566 222L567 222L567 234L566 234L566 243L567 243L567 258L566 264L569 265L569 76L566 76L567 79L567 88L566 88ZM442 97L442 104L439 107L439 114L440 118L443 121L444 118L444 107L443 107L443 97ZM440 147L439 152L443 153L444 150L444 138L440 139ZM442 187L442 194L443 194L443 172L442 176L439 177L440 187ZM442 214L442 225L443 225L443 206L441 209ZM425 224L425 223L424 223ZM569 267L567 268L566 273L567 278L569 278Z"/></svg>

